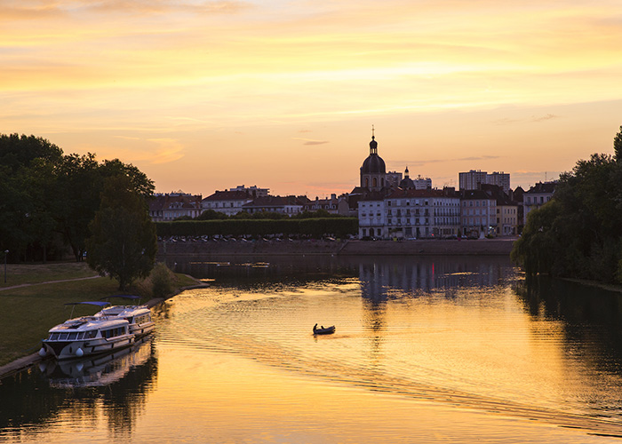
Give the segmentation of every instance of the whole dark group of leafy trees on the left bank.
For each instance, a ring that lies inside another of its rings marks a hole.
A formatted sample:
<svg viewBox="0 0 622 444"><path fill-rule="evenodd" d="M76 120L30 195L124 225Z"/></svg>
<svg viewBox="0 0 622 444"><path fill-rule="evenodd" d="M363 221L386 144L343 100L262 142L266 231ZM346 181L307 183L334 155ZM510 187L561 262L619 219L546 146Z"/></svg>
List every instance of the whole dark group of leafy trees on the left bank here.
<svg viewBox="0 0 622 444"><path fill-rule="evenodd" d="M124 288L148 275L156 230L153 182L118 159L64 155L46 139L0 135L0 249L12 261L45 261L71 250Z"/></svg>

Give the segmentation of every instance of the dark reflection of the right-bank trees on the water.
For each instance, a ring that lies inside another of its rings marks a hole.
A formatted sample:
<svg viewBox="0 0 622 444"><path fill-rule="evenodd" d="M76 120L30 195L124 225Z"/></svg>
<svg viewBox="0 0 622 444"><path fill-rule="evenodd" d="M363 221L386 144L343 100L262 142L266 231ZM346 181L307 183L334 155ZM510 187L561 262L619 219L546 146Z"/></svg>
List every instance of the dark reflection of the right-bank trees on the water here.
<svg viewBox="0 0 622 444"><path fill-rule="evenodd" d="M516 292L529 310L533 334L558 325L564 359L588 376L573 384L589 387L571 395L596 416L622 420L622 295L544 276L522 281Z"/></svg>

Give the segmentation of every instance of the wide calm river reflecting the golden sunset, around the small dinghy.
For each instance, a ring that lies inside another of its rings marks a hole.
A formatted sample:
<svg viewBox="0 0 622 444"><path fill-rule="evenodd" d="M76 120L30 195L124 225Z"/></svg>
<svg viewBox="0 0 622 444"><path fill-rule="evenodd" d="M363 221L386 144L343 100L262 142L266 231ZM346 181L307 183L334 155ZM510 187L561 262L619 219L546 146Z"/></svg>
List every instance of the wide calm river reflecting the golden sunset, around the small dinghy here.
<svg viewBox="0 0 622 444"><path fill-rule="evenodd" d="M4 378L0 442L622 442L617 293L499 257L169 261L209 287Z"/></svg>

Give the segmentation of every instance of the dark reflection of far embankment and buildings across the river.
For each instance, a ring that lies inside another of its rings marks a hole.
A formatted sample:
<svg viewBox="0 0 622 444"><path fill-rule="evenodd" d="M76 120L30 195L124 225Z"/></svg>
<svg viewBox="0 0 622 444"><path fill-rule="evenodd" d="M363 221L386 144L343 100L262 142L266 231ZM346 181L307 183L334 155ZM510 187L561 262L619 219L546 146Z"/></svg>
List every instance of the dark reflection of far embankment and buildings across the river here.
<svg viewBox="0 0 622 444"><path fill-rule="evenodd" d="M300 285L354 277L361 281L363 297L387 300L392 295L443 290L451 297L460 287L490 287L514 276L503 257L273 257L213 260L168 258L179 273L218 281L218 285L244 289L259 283ZM260 266L258 266L260 265ZM397 290L397 291L395 291Z"/></svg>

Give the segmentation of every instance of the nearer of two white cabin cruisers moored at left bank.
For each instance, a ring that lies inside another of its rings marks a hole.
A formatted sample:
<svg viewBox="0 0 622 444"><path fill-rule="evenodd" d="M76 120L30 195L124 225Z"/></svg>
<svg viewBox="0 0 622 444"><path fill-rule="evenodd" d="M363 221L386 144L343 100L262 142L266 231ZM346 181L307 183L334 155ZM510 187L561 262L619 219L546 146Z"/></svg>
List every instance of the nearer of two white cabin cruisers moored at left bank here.
<svg viewBox="0 0 622 444"><path fill-rule="evenodd" d="M57 359L82 358L109 353L134 344L130 322L114 316L83 316L50 329L39 350L41 356Z"/></svg>

